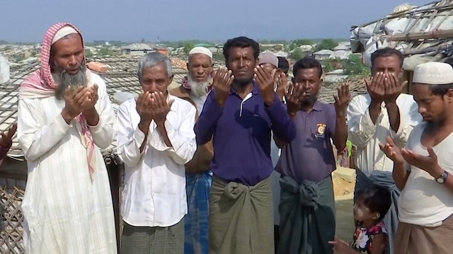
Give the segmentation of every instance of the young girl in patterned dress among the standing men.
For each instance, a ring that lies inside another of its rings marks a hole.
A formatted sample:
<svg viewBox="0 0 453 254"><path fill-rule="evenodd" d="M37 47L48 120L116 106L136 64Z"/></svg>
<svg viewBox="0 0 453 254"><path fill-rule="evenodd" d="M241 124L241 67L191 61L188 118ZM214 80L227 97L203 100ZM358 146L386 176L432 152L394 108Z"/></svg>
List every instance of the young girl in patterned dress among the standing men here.
<svg viewBox="0 0 453 254"><path fill-rule="evenodd" d="M387 233L382 219L391 205L390 192L385 187L370 186L357 192L354 204L356 228L350 245L335 238L333 250L343 254L383 254L386 250Z"/></svg>

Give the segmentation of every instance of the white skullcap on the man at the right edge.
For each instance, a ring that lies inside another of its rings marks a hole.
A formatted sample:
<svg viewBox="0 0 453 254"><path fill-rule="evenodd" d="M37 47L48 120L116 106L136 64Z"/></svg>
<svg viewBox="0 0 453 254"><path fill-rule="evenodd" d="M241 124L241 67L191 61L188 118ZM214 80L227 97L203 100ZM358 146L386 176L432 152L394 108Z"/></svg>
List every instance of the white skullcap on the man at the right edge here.
<svg viewBox="0 0 453 254"><path fill-rule="evenodd" d="M446 85L453 83L453 68L442 62L418 64L413 70L413 83Z"/></svg>

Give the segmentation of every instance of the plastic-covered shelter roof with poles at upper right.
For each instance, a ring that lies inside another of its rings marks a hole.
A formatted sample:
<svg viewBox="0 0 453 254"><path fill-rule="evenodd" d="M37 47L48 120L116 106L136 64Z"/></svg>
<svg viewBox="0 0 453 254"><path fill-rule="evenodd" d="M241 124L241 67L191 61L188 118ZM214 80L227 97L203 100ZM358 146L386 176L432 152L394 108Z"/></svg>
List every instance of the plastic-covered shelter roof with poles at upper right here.
<svg viewBox="0 0 453 254"><path fill-rule="evenodd" d="M405 54L406 70L413 70L420 63L442 61L445 57L451 57L453 35L446 40L435 39L434 36L425 40L392 40L395 35L429 35L430 32L434 34L439 30L453 30L453 1L445 2L437 13L432 11L432 8L439 4L440 1L416 8L410 5L398 6L389 16L355 27L350 35L352 52L362 52L364 63L371 66L370 58L374 51L383 47L394 47ZM398 16L398 11L403 11L403 15Z"/></svg>

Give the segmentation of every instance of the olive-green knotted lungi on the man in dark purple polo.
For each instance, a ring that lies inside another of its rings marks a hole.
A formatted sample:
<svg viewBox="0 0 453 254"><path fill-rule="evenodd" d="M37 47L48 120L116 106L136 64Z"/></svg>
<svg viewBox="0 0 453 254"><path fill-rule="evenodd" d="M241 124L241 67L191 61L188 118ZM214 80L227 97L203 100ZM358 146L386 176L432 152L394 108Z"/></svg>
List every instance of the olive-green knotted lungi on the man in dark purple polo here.
<svg viewBox="0 0 453 254"><path fill-rule="evenodd" d="M270 178L255 186L214 175L210 195L211 254L273 254Z"/></svg>

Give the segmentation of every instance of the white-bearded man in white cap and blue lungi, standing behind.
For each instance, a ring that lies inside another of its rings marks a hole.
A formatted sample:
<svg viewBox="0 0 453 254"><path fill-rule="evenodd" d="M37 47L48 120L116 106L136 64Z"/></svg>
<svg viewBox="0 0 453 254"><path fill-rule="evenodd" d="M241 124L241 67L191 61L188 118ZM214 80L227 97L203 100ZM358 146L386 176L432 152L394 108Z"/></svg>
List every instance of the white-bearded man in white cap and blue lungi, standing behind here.
<svg viewBox="0 0 453 254"><path fill-rule="evenodd" d="M171 95L183 98L197 109L196 119L212 85L212 52L205 47L194 47L188 57L188 76L180 87L170 91ZM209 197L212 183L210 163L212 160L212 141L197 146L192 161L185 164L188 214L185 216L185 254L209 253Z"/></svg>

